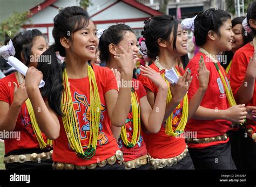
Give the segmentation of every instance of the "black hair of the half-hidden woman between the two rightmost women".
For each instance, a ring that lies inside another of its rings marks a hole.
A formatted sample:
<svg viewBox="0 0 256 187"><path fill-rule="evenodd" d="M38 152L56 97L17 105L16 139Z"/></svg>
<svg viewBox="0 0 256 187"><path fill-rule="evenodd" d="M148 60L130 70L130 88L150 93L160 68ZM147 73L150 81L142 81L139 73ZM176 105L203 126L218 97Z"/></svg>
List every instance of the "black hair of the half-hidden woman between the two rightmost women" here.
<svg viewBox="0 0 256 187"><path fill-rule="evenodd" d="M244 16L240 16L240 17L237 17L237 18L234 18L232 19L232 28L237 25L237 24L242 24L242 21L245 19ZM244 46L245 44L247 44L248 42L252 41L253 37L252 37L252 34L251 33L247 33L245 31L245 28L242 27L242 40L244 41L243 42L243 45ZM242 47L241 46L241 47ZM230 61L233 59L233 56L234 56L234 53L232 51L225 51L223 53L224 55L227 55L227 62L224 64L224 63L221 63L221 66L223 66L225 69L227 68L228 64L230 63Z"/></svg>

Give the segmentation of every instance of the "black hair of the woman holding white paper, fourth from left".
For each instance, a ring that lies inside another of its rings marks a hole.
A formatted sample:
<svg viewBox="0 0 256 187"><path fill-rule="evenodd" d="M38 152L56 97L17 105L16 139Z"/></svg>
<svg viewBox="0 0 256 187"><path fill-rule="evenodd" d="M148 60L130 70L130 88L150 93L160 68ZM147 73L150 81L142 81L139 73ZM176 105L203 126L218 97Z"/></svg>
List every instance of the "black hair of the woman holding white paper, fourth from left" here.
<svg viewBox="0 0 256 187"><path fill-rule="evenodd" d="M143 37L146 39L147 56L151 60L156 60L159 55L160 49L157 40L159 38L169 42L170 35L173 32L173 50L176 51L176 38L179 21L169 15L153 16L151 19L146 20Z"/></svg>

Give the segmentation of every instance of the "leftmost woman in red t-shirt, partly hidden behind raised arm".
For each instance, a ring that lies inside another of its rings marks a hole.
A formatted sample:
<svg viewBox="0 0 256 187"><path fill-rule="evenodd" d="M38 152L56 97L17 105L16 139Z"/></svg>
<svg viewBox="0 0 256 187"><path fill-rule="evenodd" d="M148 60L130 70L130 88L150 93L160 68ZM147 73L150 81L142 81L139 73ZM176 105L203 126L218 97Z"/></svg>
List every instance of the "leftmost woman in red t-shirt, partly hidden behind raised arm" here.
<svg viewBox="0 0 256 187"><path fill-rule="evenodd" d="M19 32L12 42L15 57L28 67L36 67L38 57L46 50L46 41L37 29ZM33 109L23 80L18 72L0 80L0 131L17 134L16 138L4 139L5 168L51 169L51 143L31 118Z"/></svg>

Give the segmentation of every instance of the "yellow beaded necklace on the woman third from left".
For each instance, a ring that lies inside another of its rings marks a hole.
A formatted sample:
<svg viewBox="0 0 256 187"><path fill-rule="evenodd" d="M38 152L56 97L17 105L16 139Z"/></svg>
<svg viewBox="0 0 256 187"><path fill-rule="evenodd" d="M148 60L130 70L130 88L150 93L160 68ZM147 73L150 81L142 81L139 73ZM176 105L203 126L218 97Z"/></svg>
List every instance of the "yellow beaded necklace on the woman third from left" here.
<svg viewBox="0 0 256 187"><path fill-rule="evenodd" d="M132 139L129 141L127 139L126 127L125 125L121 128L121 138L124 142L124 145L127 147L134 147L139 141L140 136L140 107L139 100L136 91L132 88L131 93L131 105L132 105L132 125L133 125L133 134Z"/></svg>

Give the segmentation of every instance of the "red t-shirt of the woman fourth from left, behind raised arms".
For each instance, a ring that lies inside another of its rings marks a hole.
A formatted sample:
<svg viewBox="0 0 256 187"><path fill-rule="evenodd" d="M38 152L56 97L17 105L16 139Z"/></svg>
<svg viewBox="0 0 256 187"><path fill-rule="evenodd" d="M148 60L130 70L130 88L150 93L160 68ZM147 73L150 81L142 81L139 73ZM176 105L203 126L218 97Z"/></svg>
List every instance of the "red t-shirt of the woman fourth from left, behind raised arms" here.
<svg viewBox="0 0 256 187"><path fill-rule="evenodd" d="M159 72L156 64L152 63L150 67L153 70ZM139 75L138 80L142 82L144 87L150 89L156 98L158 92L156 85L149 78L141 74ZM181 102L173 111L173 128L176 128L179 125L182 109L183 102ZM160 131L158 133L143 133L143 136L146 142L147 152L149 152L153 158L168 159L170 157L178 156L184 151L186 147L183 136L174 137L165 134L165 123L161 125Z"/></svg>

